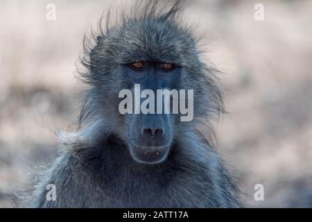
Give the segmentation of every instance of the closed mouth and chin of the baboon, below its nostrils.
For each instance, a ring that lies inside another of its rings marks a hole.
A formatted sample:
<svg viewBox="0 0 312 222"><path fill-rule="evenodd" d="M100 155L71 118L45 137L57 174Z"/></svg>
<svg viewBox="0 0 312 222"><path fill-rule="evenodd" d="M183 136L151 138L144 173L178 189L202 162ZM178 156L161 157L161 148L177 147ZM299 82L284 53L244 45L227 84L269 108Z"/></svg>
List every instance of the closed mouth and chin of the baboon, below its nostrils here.
<svg viewBox="0 0 312 222"><path fill-rule="evenodd" d="M140 163L157 164L166 160L170 146L131 146L133 159Z"/></svg>

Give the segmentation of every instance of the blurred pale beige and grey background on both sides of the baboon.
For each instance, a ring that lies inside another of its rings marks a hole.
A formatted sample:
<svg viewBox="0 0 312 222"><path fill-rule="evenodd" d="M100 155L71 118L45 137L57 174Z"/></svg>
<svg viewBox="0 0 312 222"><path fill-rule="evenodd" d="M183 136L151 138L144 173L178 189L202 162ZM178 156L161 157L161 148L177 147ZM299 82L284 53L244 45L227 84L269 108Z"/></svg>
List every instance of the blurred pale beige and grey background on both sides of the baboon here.
<svg viewBox="0 0 312 222"><path fill-rule="evenodd" d="M56 6L56 20L46 6ZM254 19L254 5L264 20ZM55 129L76 120L83 34L131 1L0 1L0 207L53 160ZM229 114L214 123L217 151L247 207L312 207L312 1L190 3L207 59L224 71ZM254 200L254 185L264 200Z"/></svg>

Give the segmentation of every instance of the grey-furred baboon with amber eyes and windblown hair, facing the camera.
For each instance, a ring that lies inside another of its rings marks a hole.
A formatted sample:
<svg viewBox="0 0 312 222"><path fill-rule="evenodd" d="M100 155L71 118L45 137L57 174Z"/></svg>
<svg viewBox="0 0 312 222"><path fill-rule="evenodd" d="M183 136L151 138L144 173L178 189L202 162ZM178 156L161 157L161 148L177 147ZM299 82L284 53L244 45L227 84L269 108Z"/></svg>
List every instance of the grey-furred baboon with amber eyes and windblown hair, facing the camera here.
<svg viewBox="0 0 312 222"><path fill-rule="evenodd" d="M138 1L116 21L110 13L101 19L81 58L88 87L78 130L60 134L60 156L42 173L29 207L241 207L199 130L225 112L223 91L183 10L182 1ZM193 120L121 114L119 92L135 84L153 92L193 89ZM56 200L46 199L49 184Z"/></svg>

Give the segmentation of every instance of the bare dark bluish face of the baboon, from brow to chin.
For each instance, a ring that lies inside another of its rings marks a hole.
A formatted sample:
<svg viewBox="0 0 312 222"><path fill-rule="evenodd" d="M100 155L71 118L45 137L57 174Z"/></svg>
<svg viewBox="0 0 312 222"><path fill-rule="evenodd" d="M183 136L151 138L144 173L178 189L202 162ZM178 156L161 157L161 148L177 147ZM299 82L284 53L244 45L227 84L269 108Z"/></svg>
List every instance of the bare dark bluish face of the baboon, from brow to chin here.
<svg viewBox="0 0 312 222"><path fill-rule="evenodd" d="M130 151L132 157L144 163L162 162L168 155L173 140L174 114L157 114L157 89L179 89L180 76L183 68L170 62L143 60L130 62L122 66L125 76L124 85L129 87L135 95L133 87L139 84L140 92L149 89L155 95L155 99L148 105L155 107L155 113L128 114L126 118L128 137L130 139ZM150 94L148 95L150 96ZM148 97L146 96L146 97ZM139 105L145 99L139 101ZM133 101L135 105L135 101ZM164 110L162 101L162 111ZM135 110L135 108L133 108ZM153 109L154 110L154 109ZM142 110L141 110L142 111Z"/></svg>

